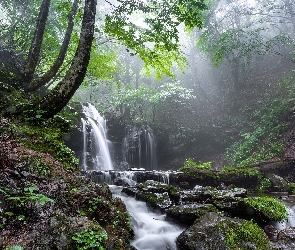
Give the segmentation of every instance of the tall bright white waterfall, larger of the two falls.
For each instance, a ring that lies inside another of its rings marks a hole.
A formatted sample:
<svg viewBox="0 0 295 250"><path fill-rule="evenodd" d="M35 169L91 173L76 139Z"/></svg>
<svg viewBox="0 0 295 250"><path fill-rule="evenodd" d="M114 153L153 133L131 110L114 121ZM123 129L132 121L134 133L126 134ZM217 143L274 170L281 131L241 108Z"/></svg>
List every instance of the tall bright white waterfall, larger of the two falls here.
<svg viewBox="0 0 295 250"><path fill-rule="evenodd" d="M110 156L111 142L107 139L105 119L91 105L83 106L86 120L82 118L83 127L83 169L112 170Z"/></svg>

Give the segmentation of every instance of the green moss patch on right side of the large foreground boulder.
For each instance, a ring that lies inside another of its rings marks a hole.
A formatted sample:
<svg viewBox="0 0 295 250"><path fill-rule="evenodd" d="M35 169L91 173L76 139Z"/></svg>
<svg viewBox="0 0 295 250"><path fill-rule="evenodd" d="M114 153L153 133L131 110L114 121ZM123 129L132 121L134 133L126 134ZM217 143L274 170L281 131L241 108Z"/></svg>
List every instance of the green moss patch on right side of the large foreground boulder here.
<svg viewBox="0 0 295 250"><path fill-rule="evenodd" d="M229 249L248 249L241 245L242 242L250 242L258 250L270 248L268 237L263 229L252 221L245 221L241 226L232 223L228 227L224 227L221 222L219 227L225 232L225 242Z"/></svg>

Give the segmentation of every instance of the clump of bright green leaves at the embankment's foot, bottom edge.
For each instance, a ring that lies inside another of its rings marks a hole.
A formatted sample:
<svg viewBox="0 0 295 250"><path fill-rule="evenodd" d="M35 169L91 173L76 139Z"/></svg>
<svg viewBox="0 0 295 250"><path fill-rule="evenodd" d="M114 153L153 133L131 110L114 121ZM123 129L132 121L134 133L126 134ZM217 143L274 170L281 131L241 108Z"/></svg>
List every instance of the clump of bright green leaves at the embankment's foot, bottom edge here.
<svg viewBox="0 0 295 250"><path fill-rule="evenodd" d="M75 233L72 236L77 249L106 249L104 242L108 239L108 235L103 228L95 226L83 232Z"/></svg>

